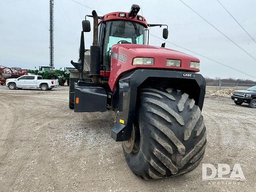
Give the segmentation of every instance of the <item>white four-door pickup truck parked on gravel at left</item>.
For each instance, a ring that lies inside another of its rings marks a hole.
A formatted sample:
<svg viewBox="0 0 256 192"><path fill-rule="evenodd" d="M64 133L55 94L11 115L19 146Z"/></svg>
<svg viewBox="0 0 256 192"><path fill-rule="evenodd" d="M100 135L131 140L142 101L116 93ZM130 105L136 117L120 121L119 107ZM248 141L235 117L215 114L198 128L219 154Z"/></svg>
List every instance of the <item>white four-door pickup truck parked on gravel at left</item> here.
<svg viewBox="0 0 256 192"><path fill-rule="evenodd" d="M23 75L16 79L7 79L6 87L9 89L16 88L40 88L43 91L51 90L57 87L56 79L43 79L39 75Z"/></svg>

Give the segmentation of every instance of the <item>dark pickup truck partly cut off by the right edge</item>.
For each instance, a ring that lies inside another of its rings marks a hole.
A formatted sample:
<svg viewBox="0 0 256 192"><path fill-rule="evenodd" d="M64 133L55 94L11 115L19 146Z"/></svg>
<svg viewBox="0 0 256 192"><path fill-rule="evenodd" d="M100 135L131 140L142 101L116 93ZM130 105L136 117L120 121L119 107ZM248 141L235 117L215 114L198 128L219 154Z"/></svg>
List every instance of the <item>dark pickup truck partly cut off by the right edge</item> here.
<svg viewBox="0 0 256 192"><path fill-rule="evenodd" d="M237 105L248 103L251 108L256 108L256 86L252 86L247 90L234 91L231 99Z"/></svg>

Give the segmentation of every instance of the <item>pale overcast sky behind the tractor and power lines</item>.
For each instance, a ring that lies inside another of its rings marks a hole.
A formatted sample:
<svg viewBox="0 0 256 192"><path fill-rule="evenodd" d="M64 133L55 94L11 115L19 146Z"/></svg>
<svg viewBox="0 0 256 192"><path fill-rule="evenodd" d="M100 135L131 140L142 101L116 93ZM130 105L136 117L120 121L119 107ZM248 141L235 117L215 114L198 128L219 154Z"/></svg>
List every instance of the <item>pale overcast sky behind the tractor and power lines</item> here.
<svg viewBox="0 0 256 192"><path fill-rule="evenodd" d="M256 60L220 34L180 0L76 0L98 12L129 12L132 3L142 7L148 23L168 24L168 41L212 58L256 77ZM242 30L217 0L184 0L188 6L256 58L256 43ZM220 0L256 40L256 1ZM71 67L78 58L81 22L92 10L72 0L54 0L54 65ZM142 14L140 11L139 14ZM98 13L98 15L102 15ZM91 22L92 24L92 22ZM162 28L150 34L162 36ZM151 45L162 40L150 36ZM86 48L92 44L92 32L85 34ZM201 74L208 77L252 78L212 62L202 56L166 43L200 59ZM0 65L33 69L49 65L49 0L0 0Z"/></svg>

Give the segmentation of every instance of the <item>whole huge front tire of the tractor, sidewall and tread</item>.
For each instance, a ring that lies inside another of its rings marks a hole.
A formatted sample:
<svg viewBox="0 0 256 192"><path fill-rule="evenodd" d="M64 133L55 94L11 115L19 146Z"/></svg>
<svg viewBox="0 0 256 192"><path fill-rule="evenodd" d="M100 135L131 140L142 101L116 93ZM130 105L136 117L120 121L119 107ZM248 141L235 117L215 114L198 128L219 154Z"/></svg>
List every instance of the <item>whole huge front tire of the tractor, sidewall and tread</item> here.
<svg viewBox="0 0 256 192"><path fill-rule="evenodd" d="M123 142L134 174L144 179L184 174L200 164L205 147L203 116L188 94L170 88L140 90L132 137Z"/></svg>

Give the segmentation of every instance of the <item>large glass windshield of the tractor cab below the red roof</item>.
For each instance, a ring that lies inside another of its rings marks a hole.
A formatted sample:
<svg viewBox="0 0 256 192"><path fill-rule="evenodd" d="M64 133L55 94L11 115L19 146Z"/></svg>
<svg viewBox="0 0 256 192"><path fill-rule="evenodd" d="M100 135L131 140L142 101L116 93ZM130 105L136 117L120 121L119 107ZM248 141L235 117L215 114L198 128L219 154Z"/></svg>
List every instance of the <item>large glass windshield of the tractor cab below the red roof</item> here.
<svg viewBox="0 0 256 192"><path fill-rule="evenodd" d="M136 22L126 20L106 22L104 38L103 64L110 70L110 54L114 44L144 44L145 27Z"/></svg>

